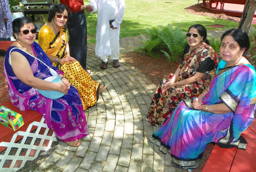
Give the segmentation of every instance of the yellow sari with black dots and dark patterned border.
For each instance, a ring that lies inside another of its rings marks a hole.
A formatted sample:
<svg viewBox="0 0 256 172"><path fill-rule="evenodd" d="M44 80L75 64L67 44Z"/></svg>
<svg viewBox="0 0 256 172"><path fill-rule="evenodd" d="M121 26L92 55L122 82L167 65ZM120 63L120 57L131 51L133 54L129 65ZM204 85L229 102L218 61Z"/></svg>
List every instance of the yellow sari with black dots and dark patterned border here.
<svg viewBox="0 0 256 172"><path fill-rule="evenodd" d="M41 46L42 50L44 50L46 54L58 58L67 56L67 40L68 33L66 26L61 27L56 36L51 28L43 26L38 35L38 44ZM94 81L77 60L71 63L52 63L64 73L69 82L78 90L82 100L83 110L86 110L97 102L97 90L100 83Z"/></svg>

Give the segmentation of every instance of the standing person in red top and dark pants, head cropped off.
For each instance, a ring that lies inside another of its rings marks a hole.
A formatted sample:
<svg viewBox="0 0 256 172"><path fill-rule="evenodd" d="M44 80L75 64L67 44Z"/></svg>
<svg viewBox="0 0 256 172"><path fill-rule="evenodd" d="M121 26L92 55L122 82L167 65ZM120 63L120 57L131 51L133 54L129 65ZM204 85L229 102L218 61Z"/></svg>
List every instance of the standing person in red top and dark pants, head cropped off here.
<svg viewBox="0 0 256 172"><path fill-rule="evenodd" d="M79 61L82 68L86 70L87 25L84 10L91 12L90 6L84 5L83 0L60 0L59 2L68 6L73 14L72 22L67 25L70 56ZM91 71L88 73L90 74Z"/></svg>

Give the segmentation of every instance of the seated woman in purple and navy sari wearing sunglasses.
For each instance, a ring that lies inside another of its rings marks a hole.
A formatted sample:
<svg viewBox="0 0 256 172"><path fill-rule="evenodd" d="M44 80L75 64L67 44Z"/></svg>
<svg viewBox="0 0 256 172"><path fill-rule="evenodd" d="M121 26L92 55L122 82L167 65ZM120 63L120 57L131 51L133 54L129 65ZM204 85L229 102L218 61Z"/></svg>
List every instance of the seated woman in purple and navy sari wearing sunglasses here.
<svg viewBox="0 0 256 172"><path fill-rule="evenodd" d="M13 21L16 41L6 52L4 61L11 102L20 111L31 109L39 112L59 140L79 146L80 139L88 135L81 99L63 73L52 65L37 42L34 42L35 32L36 26L30 18L20 17ZM47 66L57 72L62 82L44 80L52 76ZM41 95L37 89L58 91L63 96L50 99Z"/></svg>

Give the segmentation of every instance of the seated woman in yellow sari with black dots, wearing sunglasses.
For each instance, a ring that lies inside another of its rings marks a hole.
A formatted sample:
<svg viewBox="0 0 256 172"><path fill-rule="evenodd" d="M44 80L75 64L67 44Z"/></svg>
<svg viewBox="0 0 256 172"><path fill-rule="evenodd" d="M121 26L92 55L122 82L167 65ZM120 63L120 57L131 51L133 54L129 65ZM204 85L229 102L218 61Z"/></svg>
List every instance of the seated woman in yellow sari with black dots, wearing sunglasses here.
<svg viewBox="0 0 256 172"><path fill-rule="evenodd" d="M69 53L66 24L72 18L69 8L63 4L52 7L46 23L39 31L38 44L52 61L53 65L63 72L69 82L78 90L83 109L93 106L106 85L96 82L85 71L80 63ZM85 40L87 41L87 40Z"/></svg>

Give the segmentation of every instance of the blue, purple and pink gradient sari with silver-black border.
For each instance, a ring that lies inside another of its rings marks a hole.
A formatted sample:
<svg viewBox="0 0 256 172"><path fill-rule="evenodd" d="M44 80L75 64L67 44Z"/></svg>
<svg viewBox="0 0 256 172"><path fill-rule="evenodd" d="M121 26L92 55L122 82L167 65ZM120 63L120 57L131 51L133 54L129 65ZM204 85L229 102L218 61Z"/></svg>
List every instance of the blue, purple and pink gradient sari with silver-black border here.
<svg viewBox="0 0 256 172"><path fill-rule="evenodd" d="M241 65L218 71L203 103L225 103L231 112L214 114L194 111L182 101L173 112L174 115L150 139L159 147L162 145L170 149L172 164L176 167L199 167L204 149L210 142L227 147L246 147L245 144L239 144L239 138L254 119L255 102L251 103L251 98L255 70L251 65Z"/></svg>

